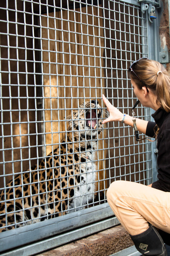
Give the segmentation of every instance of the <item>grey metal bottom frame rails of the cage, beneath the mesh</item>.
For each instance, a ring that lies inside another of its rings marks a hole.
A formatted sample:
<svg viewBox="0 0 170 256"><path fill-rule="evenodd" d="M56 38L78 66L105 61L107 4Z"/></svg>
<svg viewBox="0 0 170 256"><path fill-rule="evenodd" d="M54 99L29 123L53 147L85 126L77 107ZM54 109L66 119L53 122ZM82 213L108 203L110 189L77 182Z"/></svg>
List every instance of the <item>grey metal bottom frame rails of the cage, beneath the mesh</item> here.
<svg viewBox="0 0 170 256"><path fill-rule="evenodd" d="M69 215L21 227L19 232L18 229L3 232L0 239L0 252L10 251L0 255L32 255L118 224L119 221L108 203L104 203ZM9 239L10 243L8 242ZM37 239L41 241L37 241ZM28 243L31 244L25 245ZM19 248L12 250L14 244L15 247ZM29 248L29 251L26 248Z"/></svg>

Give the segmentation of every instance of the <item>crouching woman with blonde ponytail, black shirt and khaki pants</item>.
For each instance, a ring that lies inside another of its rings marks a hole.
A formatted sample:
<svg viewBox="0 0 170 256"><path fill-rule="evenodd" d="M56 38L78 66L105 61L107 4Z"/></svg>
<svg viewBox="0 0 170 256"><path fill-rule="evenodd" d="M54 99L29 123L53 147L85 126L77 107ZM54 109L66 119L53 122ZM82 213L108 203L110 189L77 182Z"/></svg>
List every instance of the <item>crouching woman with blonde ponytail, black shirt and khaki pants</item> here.
<svg viewBox="0 0 170 256"><path fill-rule="evenodd" d="M134 62L129 72L138 100L155 110L155 123L136 118L136 125L140 132L157 137L158 181L149 186L115 181L107 190L107 201L140 253L165 256L164 241L170 233L170 77L163 65L147 58ZM133 127L131 116L102 97L109 111L103 124L122 121Z"/></svg>

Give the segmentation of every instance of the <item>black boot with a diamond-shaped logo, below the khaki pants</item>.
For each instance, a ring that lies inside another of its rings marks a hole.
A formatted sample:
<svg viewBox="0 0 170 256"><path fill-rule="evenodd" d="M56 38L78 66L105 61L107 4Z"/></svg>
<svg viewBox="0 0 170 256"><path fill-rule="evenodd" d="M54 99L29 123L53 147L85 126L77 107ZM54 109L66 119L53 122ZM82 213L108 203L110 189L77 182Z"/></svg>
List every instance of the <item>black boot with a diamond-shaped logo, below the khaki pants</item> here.
<svg viewBox="0 0 170 256"><path fill-rule="evenodd" d="M166 246L162 237L159 235L155 227L150 227L143 233L131 236L136 249L147 256L167 256Z"/></svg>

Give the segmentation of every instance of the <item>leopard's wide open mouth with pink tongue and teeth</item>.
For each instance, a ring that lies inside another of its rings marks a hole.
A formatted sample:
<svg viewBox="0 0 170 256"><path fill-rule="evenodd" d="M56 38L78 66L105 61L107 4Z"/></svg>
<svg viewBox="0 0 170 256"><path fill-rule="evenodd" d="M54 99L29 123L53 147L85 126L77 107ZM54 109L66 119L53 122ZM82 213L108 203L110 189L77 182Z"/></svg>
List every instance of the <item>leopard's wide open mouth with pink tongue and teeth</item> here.
<svg viewBox="0 0 170 256"><path fill-rule="evenodd" d="M99 109L92 109L86 113L86 125L89 128L96 129L97 128L97 119L100 118L101 113Z"/></svg>

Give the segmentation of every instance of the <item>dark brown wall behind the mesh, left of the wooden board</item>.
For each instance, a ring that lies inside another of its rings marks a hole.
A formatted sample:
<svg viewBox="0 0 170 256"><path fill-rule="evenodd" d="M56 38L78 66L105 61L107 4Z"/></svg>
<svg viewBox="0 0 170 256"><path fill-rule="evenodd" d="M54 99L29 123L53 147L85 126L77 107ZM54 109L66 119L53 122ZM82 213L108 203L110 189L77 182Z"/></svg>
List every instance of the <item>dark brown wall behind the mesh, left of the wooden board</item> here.
<svg viewBox="0 0 170 256"><path fill-rule="evenodd" d="M0 186L12 179L12 173L37 163L36 147L40 143L38 59L33 40L32 15L23 12L23 1L1 2L1 149ZM16 8L18 12L16 12ZM20 12L19 12L20 11ZM36 29L34 31L36 36ZM31 162L29 159L32 159ZM4 176L5 175L5 176ZM4 180L5 177L5 180Z"/></svg>

